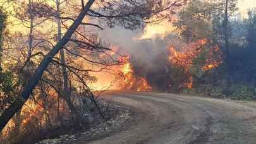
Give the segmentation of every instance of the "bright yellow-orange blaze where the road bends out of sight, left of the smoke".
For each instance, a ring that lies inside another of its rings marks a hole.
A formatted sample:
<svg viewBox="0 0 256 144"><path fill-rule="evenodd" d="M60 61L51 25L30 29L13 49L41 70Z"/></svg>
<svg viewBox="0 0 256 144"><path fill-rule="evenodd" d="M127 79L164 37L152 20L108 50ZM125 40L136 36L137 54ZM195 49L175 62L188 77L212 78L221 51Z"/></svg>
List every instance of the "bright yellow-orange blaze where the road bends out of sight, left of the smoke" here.
<svg viewBox="0 0 256 144"><path fill-rule="evenodd" d="M120 55L120 53L125 53ZM118 64L111 66L105 71L91 73L97 80L90 83L89 87L93 91L104 90L134 90L149 91L152 88L145 78L137 76L133 71L131 56L127 52L121 52L121 49L113 47L113 51L109 52L111 57L117 57ZM104 59L106 54L101 54Z"/></svg>

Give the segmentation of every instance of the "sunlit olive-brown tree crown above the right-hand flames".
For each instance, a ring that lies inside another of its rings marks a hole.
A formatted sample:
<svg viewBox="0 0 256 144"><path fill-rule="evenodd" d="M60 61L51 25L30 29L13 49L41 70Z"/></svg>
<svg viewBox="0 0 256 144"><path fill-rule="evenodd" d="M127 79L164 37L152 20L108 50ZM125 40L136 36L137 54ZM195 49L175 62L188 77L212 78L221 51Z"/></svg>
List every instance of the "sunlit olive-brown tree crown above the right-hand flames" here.
<svg viewBox="0 0 256 144"><path fill-rule="evenodd" d="M190 1L178 14L174 27L186 42L212 37L214 5L205 1Z"/></svg>

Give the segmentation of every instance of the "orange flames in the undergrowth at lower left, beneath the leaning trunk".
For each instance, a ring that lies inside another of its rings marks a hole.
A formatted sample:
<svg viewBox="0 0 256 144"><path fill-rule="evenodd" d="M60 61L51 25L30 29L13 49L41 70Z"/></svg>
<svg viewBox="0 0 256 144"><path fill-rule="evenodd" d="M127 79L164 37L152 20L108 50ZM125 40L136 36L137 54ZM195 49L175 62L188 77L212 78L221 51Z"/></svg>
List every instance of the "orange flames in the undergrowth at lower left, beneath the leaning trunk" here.
<svg viewBox="0 0 256 144"><path fill-rule="evenodd" d="M55 121L57 117L56 111L64 112L65 109L68 110L68 107L66 107L66 104L63 102L60 102L59 104L54 102L58 102L58 96L54 90L49 90L49 93L49 97L44 99L47 101L47 104L42 103L42 99L39 97L28 100L21 111L6 125L1 136L7 137L11 132L23 133L25 131L34 131L37 129L37 126L39 128L44 128L49 121L51 121L53 126L58 125ZM51 105L51 111L46 111L44 109L46 105ZM49 120L49 115L51 115L51 120Z"/></svg>

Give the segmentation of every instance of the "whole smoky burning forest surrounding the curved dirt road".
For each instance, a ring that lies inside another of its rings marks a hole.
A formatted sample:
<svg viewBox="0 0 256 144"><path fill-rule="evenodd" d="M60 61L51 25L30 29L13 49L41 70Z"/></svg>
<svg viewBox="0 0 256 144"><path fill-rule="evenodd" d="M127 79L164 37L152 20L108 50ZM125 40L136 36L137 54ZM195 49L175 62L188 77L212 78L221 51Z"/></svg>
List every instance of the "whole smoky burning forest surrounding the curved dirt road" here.
<svg viewBox="0 0 256 144"><path fill-rule="evenodd" d="M105 90L256 100L256 9L238 2L0 1L0 143L86 131L88 115L107 121ZM163 21L171 32L108 39ZM109 85L95 88L101 79Z"/></svg>

